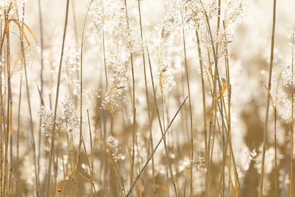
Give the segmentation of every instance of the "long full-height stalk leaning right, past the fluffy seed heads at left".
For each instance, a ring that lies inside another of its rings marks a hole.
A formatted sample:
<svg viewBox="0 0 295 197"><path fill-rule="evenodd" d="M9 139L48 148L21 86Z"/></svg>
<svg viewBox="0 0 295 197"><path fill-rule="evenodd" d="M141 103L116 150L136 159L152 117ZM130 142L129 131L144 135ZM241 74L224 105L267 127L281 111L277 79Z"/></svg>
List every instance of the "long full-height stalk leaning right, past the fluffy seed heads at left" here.
<svg viewBox="0 0 295 197"><path fill-rule="evenodd" d="M54 147L55 130L56 130L56 119L57 119L57 109L58 109L58 100L59 100L60 72L61 72L61 65L62 65L65 34L66 34L66 28L67 28L67 22L68 22L68 10L69 10L69 0L66 1L65 21L64 21L62 45L61 45L61 54L60 54L60 60L59 60L59 75L58 75L57 93L56 93L54 118L53 118L53 130L52 130L52 135L51 135L50 155L49 155L48 171L47 171L46 197L49 197L49 194L50 194L51 163L52 163L52 155L53 155L53 147ZM82 59L82 57L81 57L81 59ZM82 87L81 87L81 90L82 90ZM82 95L81 95L81 98L82 98Z"/></svg>

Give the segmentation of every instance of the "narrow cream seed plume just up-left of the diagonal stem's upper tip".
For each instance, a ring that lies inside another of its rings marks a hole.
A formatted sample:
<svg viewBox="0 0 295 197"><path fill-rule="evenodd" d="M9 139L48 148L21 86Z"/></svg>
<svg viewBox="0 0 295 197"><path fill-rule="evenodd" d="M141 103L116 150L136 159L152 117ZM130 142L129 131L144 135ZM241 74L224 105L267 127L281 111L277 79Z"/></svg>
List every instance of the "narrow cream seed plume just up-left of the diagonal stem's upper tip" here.
<svg viewBox="0 0 295 197"><path fill-rule="evenodd" d="M171 91L171 70L168 63L164 59L164 52L159 46L152 49L157 64L156 83L160 89L162 99Z"/></svg>

